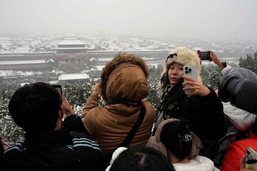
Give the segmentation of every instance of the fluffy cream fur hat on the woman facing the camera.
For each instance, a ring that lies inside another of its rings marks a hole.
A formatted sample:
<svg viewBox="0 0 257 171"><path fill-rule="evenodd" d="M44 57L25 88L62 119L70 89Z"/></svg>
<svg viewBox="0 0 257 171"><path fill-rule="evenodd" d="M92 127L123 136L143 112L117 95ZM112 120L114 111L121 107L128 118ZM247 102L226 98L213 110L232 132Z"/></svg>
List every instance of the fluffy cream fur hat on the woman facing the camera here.
<svg viewBox="0 0 257 171"><path fill-rule="evenodd" d="M166 63L163 66L163 71L161 73L161 77L160 77L160 81L159 81L159 88L165 88L169 82L167 80L167 71L168 71L168 67L171 63L178 63L181 64L183 66L185 65L195 65L197 68L197 81L199 81L200 83L202 83L202 78L200 76L200 72L201 72L201 60L199 58L199 55L192 51L189 50L187 47L177 47L175 49L173 49L171 52L169 52L169 56L167 57Z"/></svg>

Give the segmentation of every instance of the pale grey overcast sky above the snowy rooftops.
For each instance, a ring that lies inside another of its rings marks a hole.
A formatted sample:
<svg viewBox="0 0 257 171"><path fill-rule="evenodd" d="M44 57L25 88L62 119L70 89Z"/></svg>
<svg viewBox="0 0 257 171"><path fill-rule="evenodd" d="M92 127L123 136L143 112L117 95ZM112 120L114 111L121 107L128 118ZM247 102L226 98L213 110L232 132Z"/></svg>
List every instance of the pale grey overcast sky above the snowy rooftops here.
<svg viewBox="0 0 257 171"><path fill-rule="evenodd" d="M256 7L257 0L0 0L0 33L73 30L255 41Z"/></svg>

